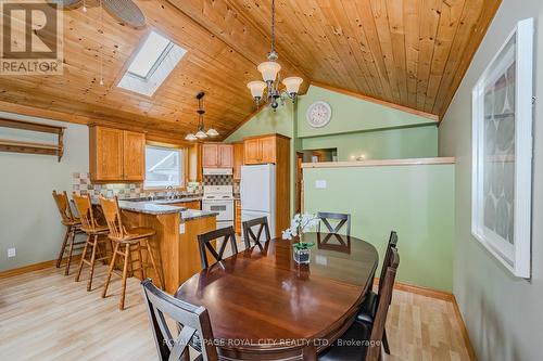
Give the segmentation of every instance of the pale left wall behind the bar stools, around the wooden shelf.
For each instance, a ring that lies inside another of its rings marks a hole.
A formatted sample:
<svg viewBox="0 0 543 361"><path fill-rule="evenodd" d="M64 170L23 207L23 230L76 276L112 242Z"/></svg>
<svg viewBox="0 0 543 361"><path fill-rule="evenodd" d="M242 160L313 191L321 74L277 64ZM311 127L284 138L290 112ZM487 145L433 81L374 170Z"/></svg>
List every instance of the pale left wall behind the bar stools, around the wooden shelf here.
<svg viewBox="0 0 543 361"><path fill-rule="evenodd" d="M0 271L55 259L64 227L51 196L53 190L72 193L72 173L89 169L87 126L0 112L0 118L48 123L67 127L61 163L55 156L0 152ZM21 131L0 128L0 139ZM51 136L24 132L39 142ZM8 258L8 248L16 257Z"/></svg>

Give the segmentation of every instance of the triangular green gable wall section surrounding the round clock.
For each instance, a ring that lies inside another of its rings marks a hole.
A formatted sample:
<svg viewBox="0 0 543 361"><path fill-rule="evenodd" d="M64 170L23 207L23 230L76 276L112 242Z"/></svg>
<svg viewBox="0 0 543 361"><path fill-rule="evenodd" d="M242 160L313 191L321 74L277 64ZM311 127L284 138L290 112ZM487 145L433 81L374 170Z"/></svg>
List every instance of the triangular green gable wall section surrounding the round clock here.
<svg viewBox="0 0 543 361"><path fill-rule="evenodd" d="M305 119L307 108L316 101L328 102L332 109L330 123L323 128L313 128ZM406 126L435 125L435 121L429 118L315 86L311 86L307 93L299 98L298 116L300 118L298 123L298 137L300 138Z"/></svg>

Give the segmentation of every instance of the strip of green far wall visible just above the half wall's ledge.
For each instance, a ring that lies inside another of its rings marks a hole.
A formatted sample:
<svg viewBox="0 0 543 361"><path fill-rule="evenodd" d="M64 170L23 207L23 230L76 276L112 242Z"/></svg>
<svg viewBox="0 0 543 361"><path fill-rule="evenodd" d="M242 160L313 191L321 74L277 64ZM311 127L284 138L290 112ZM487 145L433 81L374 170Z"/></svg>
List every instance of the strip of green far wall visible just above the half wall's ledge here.
<svg viewBox="0 0 543 361"><path fill-rule="evenodd" d="M302 138L302 150L337 149L338 160L424 158L438 156L434 125Z"/></svg>

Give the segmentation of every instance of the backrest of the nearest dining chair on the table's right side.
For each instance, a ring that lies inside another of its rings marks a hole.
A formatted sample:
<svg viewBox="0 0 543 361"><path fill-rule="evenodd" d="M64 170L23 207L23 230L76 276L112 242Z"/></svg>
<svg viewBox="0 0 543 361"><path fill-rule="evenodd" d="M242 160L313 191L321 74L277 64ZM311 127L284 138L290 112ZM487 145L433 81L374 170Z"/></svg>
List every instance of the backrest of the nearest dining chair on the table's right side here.
<svg viewBox="0 0 543 361"><path fill-rule="evenodd" d="M384 324L387 322L387 314L392 300L392 291L399 266L400 255L397 254L397 249L391 248L391 256L389 262L386 265L384 278L382 279L383 287L381 294L379 295L374 325L371 327L370 340L371 345L375 346L368 348L368 353L366 356L366 360L368 361L379 360Z"/></svg>

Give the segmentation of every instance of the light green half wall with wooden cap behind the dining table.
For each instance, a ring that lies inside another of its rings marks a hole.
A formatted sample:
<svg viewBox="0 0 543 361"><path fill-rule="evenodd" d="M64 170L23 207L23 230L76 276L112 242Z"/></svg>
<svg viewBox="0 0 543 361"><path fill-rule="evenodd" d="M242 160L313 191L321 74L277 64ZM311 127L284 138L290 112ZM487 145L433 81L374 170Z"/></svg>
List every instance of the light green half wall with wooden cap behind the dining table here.
<svg viewBox="0 0 543 361"><path fill-rule="evenodd" d="M326 180L326 189L315 181ZM454 165L304 169L305 211L352 215L351 234L377 247L399 235L397 280L452 292Z"/></svg>

